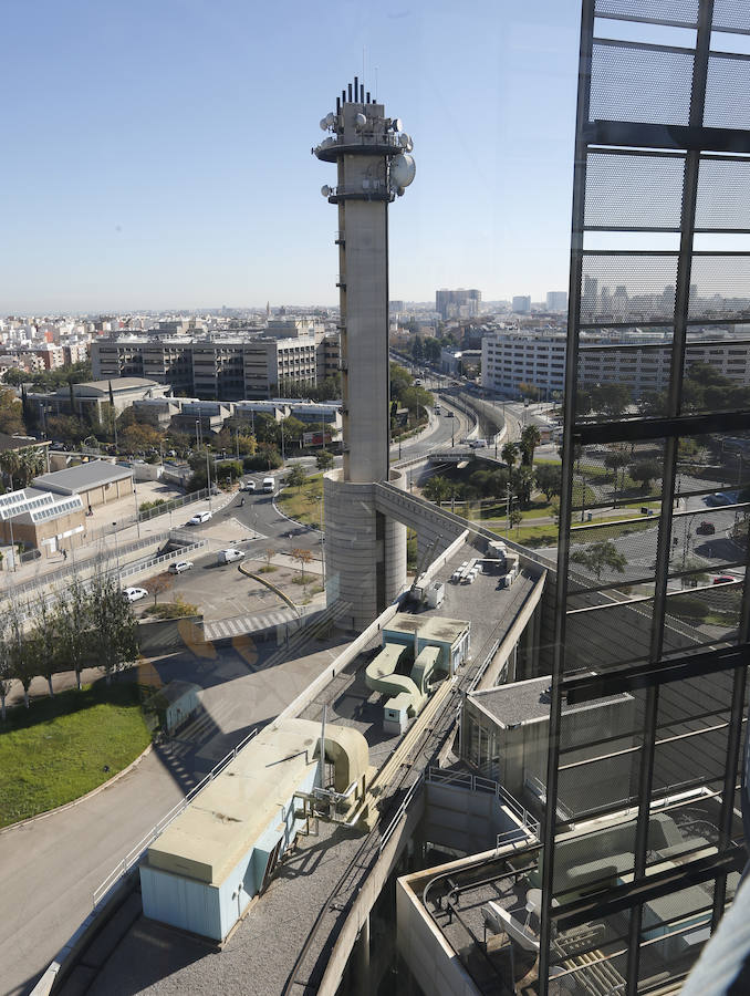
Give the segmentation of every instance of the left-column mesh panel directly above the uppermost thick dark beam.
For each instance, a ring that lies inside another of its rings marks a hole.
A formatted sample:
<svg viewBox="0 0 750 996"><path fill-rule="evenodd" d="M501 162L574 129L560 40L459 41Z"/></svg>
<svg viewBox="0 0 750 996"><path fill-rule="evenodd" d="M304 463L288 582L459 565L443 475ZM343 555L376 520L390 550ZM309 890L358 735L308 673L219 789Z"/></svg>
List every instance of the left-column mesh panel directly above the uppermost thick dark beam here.
<svg viewBox="0 0 750 996"><path fill-rule="evenodd" d="M594 42L591 121L687 124L692 54Z"/></svg>

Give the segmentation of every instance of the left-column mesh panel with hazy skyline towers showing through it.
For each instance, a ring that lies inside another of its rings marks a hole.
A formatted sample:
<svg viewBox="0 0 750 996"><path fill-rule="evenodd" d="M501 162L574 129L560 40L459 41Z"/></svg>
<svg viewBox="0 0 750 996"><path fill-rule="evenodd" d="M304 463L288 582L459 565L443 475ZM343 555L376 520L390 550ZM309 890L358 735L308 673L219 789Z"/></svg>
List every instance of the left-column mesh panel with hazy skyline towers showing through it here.
<svg viewBox="0 0 750 996"><path fill-rule="evenodd" d="M581 322L664 322L675 310L677 256L584 253Z"/></svg>

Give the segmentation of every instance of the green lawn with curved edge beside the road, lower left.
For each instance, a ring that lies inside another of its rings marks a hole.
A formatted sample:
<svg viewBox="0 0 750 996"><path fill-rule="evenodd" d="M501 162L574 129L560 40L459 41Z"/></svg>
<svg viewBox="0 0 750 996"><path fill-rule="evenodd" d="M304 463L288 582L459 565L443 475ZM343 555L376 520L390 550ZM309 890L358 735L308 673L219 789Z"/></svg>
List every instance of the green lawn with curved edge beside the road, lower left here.
<svg viewBox="0 0 750 996"><path fill-rule="evenodd" d="M129 682L98 682L37 699L29 709L14 706L0 726L0 827L85 795L149 740L137 685Z"/></svg>

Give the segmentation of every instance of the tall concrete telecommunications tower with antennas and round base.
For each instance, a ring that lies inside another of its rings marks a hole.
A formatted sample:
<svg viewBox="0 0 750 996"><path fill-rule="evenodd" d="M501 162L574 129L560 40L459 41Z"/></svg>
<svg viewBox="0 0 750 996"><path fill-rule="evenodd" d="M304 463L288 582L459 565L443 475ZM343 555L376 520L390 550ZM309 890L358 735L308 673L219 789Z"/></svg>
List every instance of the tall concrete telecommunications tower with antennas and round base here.
<svg viewBox="0 0 750 996"><path fill-rule="evenodd" d="M329 132L313 152L336 164L336 185L321 190L338 208L338 289L343 471L325 479L329 602L352 605L356 625L372 621L406 580L406 529L378 511L374 486L388 473L388 205L414 179L412 138L398 118L354 77L321 121Z"/></svg>

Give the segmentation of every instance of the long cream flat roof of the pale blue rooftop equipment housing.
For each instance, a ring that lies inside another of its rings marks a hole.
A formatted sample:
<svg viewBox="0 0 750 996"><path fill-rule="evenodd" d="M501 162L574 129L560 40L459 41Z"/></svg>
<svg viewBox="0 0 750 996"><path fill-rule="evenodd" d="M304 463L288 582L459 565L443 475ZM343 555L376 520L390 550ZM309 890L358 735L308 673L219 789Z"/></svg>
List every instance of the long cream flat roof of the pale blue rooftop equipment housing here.
<svg viewBox="0 0 750 996"><path fill-rule="evenodd" d="M320 725L267 726L148 849L148 863L220 885L317 761Z"/></svg>

